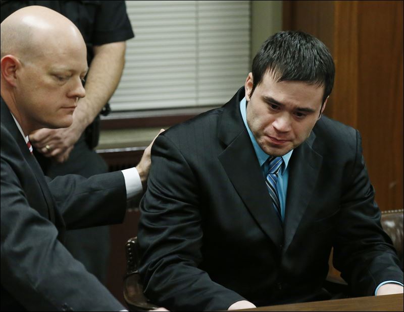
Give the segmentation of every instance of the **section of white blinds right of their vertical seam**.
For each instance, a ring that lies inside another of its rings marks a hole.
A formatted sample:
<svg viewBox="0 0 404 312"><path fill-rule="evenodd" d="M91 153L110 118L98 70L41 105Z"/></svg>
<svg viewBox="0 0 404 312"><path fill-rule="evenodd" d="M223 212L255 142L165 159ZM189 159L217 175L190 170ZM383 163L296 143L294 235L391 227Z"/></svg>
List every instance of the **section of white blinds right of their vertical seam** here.
<svg viewBox="0 0 404 312"><path fill-rule="evenodd" d="M249 68L248 1L198 1L197 105L224 104Z"/></svg>

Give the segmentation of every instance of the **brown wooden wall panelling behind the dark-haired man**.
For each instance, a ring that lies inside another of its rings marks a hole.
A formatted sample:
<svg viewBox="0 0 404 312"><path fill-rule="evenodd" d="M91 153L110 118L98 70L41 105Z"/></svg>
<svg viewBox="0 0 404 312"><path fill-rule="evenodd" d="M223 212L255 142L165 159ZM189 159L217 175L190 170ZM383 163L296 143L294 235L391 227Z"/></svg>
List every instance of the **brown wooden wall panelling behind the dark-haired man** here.
<svg viewBox="0 0 404 312"><path fill-rule="evenodd" d="M283 28L322 40L335 60L325 113L357 128L381 210L403 207L403 2L284 1Z"/></svg>

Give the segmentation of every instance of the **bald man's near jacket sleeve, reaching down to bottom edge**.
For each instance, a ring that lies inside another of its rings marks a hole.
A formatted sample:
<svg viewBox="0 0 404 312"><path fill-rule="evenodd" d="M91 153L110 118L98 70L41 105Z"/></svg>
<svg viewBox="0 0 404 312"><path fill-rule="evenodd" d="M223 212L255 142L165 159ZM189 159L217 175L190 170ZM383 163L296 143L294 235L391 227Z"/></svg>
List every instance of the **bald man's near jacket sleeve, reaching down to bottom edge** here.
<svg viewBox="0 0 404 312"><path fill-rule="evenodd" d="M70 255L57 239L55 225L29 206L3 157L1 190L2 288L28 310L61 310L66 305L78 311L123 308Z"/></svg>

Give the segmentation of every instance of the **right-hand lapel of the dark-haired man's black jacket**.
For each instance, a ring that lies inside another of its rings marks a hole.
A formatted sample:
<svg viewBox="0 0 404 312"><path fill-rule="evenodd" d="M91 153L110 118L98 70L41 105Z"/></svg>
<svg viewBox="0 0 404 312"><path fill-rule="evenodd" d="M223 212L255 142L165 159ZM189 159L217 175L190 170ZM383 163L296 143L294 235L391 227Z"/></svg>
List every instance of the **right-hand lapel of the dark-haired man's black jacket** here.
<svg viewBox="0 0 404 312"><path fill-rule="evenodd" d="M286 252L296 233L317 183L323 157L312 149L315 138L316 135L312 132L310 137L293 151L290 159L283 252Z"/></svg>

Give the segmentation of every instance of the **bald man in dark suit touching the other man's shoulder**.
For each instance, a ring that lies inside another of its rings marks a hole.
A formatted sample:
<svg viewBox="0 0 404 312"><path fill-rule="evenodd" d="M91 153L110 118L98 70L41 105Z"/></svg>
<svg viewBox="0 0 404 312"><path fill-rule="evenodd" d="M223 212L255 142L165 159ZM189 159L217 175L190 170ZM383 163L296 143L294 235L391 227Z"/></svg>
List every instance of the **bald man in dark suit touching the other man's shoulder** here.
<svg viewBox="0 0 404 312"><path fill-rule="evenodd" d="M122 222L127 199L142 193L151 144L136 168L46 178L28 134L72 124L85 96L85 43L67 18L36 6L5 19L1 38L1 309L121 310L64 234Z"/></svg>

